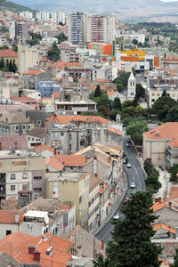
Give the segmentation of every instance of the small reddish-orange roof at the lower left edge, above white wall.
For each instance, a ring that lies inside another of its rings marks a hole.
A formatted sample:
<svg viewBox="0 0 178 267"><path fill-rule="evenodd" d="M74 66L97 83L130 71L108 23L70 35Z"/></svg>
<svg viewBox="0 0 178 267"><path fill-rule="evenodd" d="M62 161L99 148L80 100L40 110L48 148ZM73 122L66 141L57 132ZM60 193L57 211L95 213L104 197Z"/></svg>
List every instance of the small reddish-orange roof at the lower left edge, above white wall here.
<svg viewBox="0 0 178 267"><path fill-rule="evenodd" d="M15 210L0 210L0 223L15 223ZM24 212L19 212L19 223L23 222Z"/></svg>

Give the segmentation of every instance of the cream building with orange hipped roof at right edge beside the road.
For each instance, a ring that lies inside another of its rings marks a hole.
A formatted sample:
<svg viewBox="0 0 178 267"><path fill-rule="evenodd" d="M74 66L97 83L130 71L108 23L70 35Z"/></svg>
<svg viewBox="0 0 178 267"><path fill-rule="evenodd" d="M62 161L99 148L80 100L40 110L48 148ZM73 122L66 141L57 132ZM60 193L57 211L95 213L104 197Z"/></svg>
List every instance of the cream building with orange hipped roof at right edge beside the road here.
<svg viewBox="0 0 178 267"><path fill-rule="evenodd" d="M143 159L151 160L155 166L166 166L166 160L168 160L168 163L173 161L174 150L172 159L166 157L166 154L170 153L167 142L178 139L177 133L177 122L168 122L144 133L142 139Z"/></svg>

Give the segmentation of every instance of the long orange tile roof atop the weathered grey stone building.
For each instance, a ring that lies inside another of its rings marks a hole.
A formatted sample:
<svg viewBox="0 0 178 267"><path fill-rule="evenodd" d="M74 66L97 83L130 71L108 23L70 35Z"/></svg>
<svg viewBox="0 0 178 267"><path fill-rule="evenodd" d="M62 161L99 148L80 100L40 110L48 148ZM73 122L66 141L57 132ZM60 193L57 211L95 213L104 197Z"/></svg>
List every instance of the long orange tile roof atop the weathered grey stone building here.
<svg viewBox="0 0 178 267"><path fill-rule="evenodd" d="M45 122L45 125L48 125L52 121L55 121L56 124L68 125L70 121L75 122L84 122L84 123L97 123L98 125L109 124L109 120L100 116L82 116L82 115L58 115L52 116L50 119Z"/></svg>

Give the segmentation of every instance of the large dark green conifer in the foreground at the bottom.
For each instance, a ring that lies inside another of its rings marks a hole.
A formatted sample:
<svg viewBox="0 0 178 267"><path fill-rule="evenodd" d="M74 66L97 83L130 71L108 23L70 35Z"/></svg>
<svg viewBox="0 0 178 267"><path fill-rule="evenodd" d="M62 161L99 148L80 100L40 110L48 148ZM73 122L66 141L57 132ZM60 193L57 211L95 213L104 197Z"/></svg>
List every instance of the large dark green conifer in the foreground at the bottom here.
<svg viewBox="0 0 178 267"><path fill-rule="evenodd" d="M160 266L158 255L161 249L150 240L155 233L150 224L158 218L150 208L152 205L150 192L138 191L123 202L124 219L114 223L113 240L108 243L106 259L100 255L94 261L95 267Z"/></svg>

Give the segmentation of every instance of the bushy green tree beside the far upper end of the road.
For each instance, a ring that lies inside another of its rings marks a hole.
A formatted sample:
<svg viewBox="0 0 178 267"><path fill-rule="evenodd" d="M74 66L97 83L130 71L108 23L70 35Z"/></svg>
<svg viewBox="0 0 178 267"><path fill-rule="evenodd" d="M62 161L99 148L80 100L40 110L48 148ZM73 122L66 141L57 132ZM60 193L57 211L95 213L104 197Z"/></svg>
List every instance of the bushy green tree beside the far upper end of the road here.
<svg viewBox="0 0 178 267"><path fill-rule="evenodd" d="M139 120L132 120L126 126L126 134L131 135L131 138L136 145L142 145L142 134L147 131L147 124Z"/></svg>

